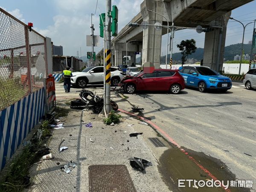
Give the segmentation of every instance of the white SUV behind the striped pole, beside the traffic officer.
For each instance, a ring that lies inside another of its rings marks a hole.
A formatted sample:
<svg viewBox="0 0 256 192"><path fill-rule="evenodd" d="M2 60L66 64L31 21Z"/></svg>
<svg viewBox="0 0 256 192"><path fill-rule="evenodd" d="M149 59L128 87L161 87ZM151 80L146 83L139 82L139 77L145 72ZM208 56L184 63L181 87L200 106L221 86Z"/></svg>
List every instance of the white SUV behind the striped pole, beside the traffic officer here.
<svg viewBox="0 0 256 192"><path fill-rule="evenodd" d="M84 88L87 84L103 84L104 67L91 66L85 68L81 72L73 72L72 75L71 84L75 86ZM111 85L117 86L122 78L122 71L117 67L111 67Z"/></svg>

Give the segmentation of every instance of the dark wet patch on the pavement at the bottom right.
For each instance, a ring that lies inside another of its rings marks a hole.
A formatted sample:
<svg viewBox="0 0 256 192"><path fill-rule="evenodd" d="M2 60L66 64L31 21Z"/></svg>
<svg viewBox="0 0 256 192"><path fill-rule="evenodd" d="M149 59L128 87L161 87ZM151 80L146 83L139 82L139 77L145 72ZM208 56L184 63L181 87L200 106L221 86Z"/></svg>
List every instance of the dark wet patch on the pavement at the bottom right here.
<svg viewBox="0 0 256 192"><path fill-rule="evenodd" d="M185 148L184 148L185 149ZM230 180L236 180L236 176L231 173L227 166L220 160L210 157L202 152L196 152L189 149L185 149L188 154L193 157L201 166L207 169L217 180L224 181L224 184ZM225 191L221 187L199 187L194 189L188 186L188 182L185 181L186 187L178 187L178 180L211 180L212 178L204 172L199 166L197 166L187 154L180 151L178 148L170 148L166 150L159 159L160 165L158 169L163 175L163 180L169 189L172 191L188 192L196 190L198 192L221 192ZM192 182L193 183L193 182ZM229 187L232 192L249 192L249 188L233 188Z"/></svg>

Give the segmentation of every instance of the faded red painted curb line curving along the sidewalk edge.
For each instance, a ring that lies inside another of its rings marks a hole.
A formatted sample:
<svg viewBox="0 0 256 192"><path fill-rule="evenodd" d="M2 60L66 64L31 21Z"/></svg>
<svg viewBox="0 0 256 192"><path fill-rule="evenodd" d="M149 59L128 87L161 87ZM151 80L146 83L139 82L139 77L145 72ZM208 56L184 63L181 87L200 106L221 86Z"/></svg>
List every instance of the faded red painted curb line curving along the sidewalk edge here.
<svg viewBox="0 0 256 192"><path fill-rule="evenodd" d="M161 129L160 127L158 127L157 125L155 125L153 122L151 122L150 120L136 115L134 113L122 110L122 109L118 109L118 111L122 112L122 113L127 113L129 115L132 116L136 116L138 118L140 118L141 120L143 120L144 122L150 124L152 127L154 127L160 134L162 134L169 142L171 142L172 144L176 145L178 149L180 149L181 152L183 152L184 154L186 154L190 160L192 160L201 170L203 170L205 173L207 173L207 175L209 175L209 177L211 177L213 180L218 180L214 175L211 174L211 172L209 172L206 168L204 168L204 166L202 166L200 163L198 163L194 157L190 156L188 152L186 152L183 148L181 148L181 146L175 142L175 140L172 139L172 137L170 137L165 131L163 131L163 129ZM225 189L224 186L221 185L221 187L226 191L226 192L231 192L230 189Z"/></svg>

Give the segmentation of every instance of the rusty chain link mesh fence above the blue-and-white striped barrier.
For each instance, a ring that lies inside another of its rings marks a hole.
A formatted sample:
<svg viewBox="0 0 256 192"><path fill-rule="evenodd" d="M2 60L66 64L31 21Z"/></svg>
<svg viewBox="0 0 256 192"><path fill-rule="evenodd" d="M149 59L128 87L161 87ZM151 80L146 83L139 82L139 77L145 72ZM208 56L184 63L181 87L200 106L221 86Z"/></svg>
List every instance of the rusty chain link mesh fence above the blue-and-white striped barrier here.
<svg viewBox="0 0 256 192"><path fill-rule="evenodd" d="M45 37L0 8L0 111L44 86Z"/></svg>

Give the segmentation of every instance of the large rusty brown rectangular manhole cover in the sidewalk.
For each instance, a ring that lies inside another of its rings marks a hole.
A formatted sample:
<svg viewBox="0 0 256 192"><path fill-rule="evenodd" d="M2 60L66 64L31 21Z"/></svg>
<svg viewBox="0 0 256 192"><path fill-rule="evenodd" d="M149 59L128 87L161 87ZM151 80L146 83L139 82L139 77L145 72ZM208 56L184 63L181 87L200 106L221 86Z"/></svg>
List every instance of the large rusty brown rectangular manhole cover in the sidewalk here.
<svg viewBox="0 0 256 192"><path fill-rule="evenodd" d="M88 169L90 192L136 192L125 165L92 165Z"/></svg>

